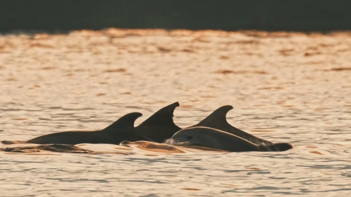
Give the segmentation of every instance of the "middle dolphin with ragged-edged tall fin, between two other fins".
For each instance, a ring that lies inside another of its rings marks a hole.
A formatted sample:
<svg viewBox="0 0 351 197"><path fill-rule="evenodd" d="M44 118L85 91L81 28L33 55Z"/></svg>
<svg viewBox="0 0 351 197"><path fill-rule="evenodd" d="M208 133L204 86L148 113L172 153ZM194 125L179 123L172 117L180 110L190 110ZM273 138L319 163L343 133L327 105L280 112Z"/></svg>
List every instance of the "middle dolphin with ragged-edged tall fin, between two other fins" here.
<svg viewBox="0 0 351 197"><path fill-rule="evenodd" d="M178 106L179 103L175 102L158 110L137 126L135 130L148 140L158 143L171 138L173 134L181 130L181 128L173 122L173 112Z"/></svg>

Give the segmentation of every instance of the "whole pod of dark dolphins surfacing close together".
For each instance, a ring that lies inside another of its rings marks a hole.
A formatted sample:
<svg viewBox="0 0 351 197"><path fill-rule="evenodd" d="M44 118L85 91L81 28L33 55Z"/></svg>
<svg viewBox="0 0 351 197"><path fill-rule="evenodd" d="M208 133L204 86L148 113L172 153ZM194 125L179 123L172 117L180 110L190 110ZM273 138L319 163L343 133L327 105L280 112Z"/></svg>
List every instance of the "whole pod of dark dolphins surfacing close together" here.
<svg viewBox="0 0 351 197"><path fill-rule="evenodd" d="M28 140L33 144L120 144L122 141L151 141L162 143L167 139L208 148L241 151L285 151L291 149L287 143L272 143L248 134L230 125L226 120L232 106L226 105L212 112L196 125L182 129L174 124L173 112L178 102L170 104L137 127L135 120L141 113L127 114L100 131L66 131L47 134ZM186 136L186 137L184 137ZM187 138L188 137L188 138ZM188 141L186 141L188 139ZM203 140L202 143L196 140ZM218 144L221 144L219 146Z"/></svg>

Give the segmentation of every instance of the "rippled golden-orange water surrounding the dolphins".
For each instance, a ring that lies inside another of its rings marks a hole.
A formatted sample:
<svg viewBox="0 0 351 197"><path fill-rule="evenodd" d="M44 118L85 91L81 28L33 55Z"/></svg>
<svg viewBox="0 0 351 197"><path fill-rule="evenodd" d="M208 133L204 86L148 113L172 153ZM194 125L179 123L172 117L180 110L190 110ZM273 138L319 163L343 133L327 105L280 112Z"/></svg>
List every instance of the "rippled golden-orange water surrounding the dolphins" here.
<svg viewBox="0 0 351 197"><path fill-rule="evenodd" d="M286 152L152 143L88 153L0 152L0 196L350 196L351 33L119 30L0 35L0 140L135 125L180 102ZM0 145L0 148L33 145Z"/></svg>

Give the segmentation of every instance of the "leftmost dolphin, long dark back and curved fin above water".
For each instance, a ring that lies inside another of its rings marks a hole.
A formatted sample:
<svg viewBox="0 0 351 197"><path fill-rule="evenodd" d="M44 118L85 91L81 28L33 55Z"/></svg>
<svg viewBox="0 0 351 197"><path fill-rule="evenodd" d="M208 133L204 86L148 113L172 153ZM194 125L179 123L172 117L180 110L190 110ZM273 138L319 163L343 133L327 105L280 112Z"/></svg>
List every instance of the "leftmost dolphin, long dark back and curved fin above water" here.
<svg viewBox="0 0 351 197"><path fill-rule="evenodd" d="M28 140L33 144L119 144L122 141L147 140L135 131L134 122L141 113L130 113L100 131L66 131L47 134Z"/></svg>

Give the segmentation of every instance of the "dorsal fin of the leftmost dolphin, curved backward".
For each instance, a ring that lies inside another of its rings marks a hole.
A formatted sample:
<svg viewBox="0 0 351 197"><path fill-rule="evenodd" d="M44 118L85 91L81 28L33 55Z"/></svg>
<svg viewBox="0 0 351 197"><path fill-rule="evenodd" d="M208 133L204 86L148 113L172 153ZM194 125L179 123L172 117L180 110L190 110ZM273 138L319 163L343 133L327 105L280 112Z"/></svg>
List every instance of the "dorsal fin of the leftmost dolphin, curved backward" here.
<svg viewBox="0 0 351 197"><path fill-rule="evenodd" d="M102 131L105 132L112 132L112 131L125 131L125 130L133 130L134 129L134 122L137 118L142 116L139 112L133 112L126 114L112 123L110 126L106 127Z"/></svg>

